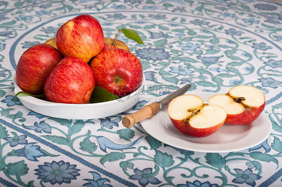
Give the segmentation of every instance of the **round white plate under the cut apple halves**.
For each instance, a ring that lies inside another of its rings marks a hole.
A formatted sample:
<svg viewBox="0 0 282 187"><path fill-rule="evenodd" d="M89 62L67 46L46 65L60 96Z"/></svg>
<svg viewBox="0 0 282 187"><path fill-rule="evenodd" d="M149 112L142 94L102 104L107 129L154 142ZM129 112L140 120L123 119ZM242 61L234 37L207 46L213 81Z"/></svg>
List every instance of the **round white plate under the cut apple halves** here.
<svg viewBox="0 0 282 187"><path fill-rule="evenodd" d="M205 102L218 93L188 91L201 97ZM249 125L231 126L224 124L214 134L203 137L190 137L182 134L171 123L167 106L160 109L152 118L140 122L142 127L154 138L174 147L198 152L231 152L253 147L263 142L271 133L272 125L262 112Z"/></svg>

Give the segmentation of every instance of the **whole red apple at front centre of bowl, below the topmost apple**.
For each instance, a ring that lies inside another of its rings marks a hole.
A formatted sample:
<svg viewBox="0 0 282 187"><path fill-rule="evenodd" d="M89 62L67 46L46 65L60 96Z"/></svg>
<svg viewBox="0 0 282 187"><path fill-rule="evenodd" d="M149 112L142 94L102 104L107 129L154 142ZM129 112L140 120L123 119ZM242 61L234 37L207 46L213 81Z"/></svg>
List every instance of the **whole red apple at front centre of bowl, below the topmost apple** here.
<svg viewBox="0 0 282 187"><path fill-rule="evenodd" d="M95 86L88 64L77 57L65 57L52 70L44 86L49 101L58 103L88 103Z"/></svg>

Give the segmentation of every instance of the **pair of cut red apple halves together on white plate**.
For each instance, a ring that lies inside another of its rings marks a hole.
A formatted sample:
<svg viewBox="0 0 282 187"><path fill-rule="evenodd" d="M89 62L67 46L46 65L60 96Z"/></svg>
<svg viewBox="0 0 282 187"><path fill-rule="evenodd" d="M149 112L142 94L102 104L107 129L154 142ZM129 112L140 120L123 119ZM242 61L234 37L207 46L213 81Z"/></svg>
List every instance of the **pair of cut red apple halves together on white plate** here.
<svg viewBox="0 0 282 187"><path fill-rule="evenodd" d="M183 134L206 137L223 124L248 125L261 114L265 97L256 87L240 85L228 93L210 97L207 103L196 95L181 95L169 102L168 114Z"/></svg>

